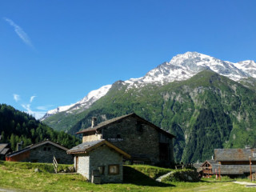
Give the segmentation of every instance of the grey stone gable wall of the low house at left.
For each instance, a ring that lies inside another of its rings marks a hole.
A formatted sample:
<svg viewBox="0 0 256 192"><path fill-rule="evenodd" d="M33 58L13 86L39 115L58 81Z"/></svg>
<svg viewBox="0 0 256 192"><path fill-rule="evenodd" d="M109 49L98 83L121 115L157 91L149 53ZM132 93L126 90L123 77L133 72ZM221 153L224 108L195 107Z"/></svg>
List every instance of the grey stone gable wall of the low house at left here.
<svg viewBox="0 0 256 192"><path fill-rule="evenodd" d="M66 150L62 150L56 146L45 144L38 146L30 150L30 155L24 159L22 162L53 162L53 159L57 159L58 163L61 164L73 164L73 156L66 154Z"/></svg>

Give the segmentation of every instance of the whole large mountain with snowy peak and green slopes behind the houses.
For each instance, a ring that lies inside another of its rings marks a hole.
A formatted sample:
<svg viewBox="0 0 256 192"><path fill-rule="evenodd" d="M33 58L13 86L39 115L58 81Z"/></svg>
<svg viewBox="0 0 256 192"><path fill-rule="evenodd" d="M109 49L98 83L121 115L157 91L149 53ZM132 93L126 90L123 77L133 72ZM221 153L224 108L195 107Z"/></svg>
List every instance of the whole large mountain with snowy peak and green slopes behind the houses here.
<svg viewBox="0 0 256 192"><path fill-rule="evenodd" d="M54 114L44 122L70 134L98 122L135 112L177 136L176 161L211 158L214 148L256 147L254 61L224 62L187 52L142 78L115 82L85 107Z"/></svg>

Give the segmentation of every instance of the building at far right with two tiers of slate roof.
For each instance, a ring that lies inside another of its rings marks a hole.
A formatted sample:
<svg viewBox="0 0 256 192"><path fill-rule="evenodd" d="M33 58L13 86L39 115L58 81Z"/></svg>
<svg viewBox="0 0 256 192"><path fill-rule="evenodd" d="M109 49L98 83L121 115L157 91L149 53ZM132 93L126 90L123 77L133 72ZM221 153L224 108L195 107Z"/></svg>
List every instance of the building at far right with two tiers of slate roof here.
<svg viewBox="0 0 256 192"><path fill-rule="evenodd" d="M222 175L238 176L256 171L256 149L215 149L215 161L220 164Z"/></svg>

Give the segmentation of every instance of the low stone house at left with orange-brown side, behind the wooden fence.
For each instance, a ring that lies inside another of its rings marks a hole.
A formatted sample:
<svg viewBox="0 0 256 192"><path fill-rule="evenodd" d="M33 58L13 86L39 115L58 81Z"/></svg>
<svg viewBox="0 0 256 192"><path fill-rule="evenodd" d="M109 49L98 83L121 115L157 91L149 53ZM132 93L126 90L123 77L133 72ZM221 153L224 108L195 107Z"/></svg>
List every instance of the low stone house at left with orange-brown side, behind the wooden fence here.
<svg viewBox="0 0 256 192"><path fill-rule="evenodd" d="M72 164L72 155L66 154L68 149L49 140L26 146L22 150L6 154L6 161L10 162L53 162L54 157L58 163Z"/></svg>

